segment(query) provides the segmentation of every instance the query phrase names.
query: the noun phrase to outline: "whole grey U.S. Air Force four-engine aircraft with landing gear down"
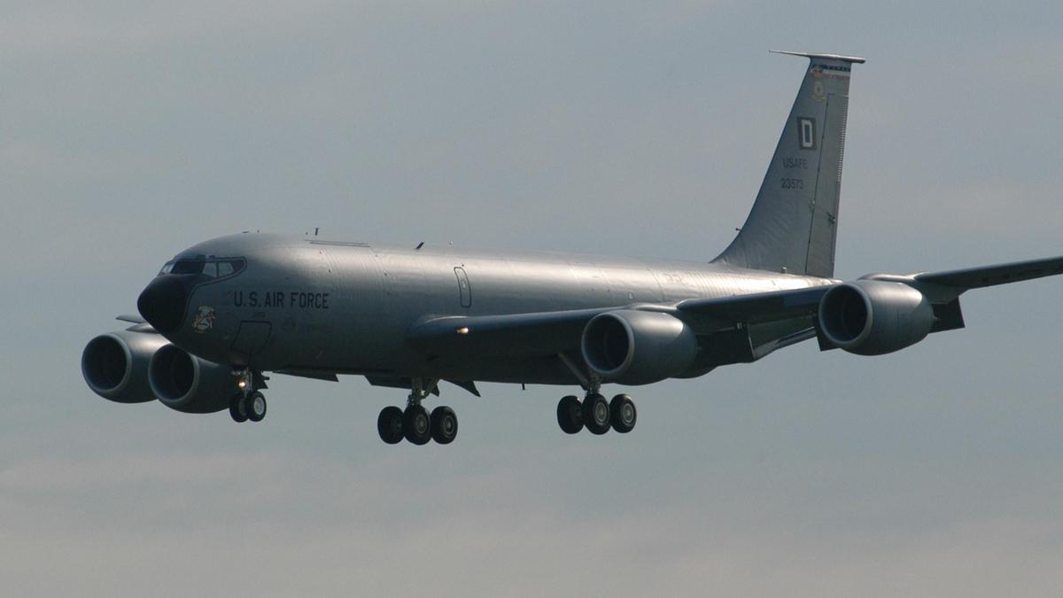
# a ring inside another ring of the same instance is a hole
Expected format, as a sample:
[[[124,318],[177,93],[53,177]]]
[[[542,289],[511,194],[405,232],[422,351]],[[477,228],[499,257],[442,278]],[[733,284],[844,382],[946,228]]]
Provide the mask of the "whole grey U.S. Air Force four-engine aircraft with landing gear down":
[[[266,415],[264,372],[409,391],[377,432],[449,444],[458,419],[423,401],[440,383],[579,386],[561,430],[630,432],[635,402],[603,384],[694,378],[815,338],[879,355],[963,328],[971,289],[1063,272],[1063,258],[944,272],[833,278],[851,68],[809,59],[745,225],[709,263],[568,253],[395,247],[317,236],[236,234],[166,263],[130,328],[92,338],[82,372],[118,402],[185,413]]]

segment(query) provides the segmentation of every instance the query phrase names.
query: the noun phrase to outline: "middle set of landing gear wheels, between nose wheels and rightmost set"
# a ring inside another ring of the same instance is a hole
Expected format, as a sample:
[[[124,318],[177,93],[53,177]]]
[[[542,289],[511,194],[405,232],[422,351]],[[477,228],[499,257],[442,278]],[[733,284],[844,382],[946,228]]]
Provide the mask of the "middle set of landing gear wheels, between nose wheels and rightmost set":
[[[406,400],[406,409],[390,405],[381,410],[376,418],[376,431],[381,439],[389,445],[399,444],[406,438],[415,445],[426,445],[436,441],[440,445],[449,445],[458,435],[458,416],[449,406],[437,406],[432,414],[421,405],[421,400],[439,384],[438,380],[425,381],[415,378],[411,391]]]

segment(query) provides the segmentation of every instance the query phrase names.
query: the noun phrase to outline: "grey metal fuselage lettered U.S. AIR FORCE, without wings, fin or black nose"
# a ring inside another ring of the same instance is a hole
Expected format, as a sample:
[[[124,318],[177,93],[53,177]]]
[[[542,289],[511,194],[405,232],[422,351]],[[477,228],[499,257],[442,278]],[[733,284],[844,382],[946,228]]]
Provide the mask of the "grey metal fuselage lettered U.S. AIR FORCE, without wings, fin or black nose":
[[[837,282],[698,262],[415,249],[259,233],[196,245],[174,258],[182,260],[244,264],[227,277],[159,276],[180,281],[185,296],[171,308],[182,312],[175,326],[159,332],[204,360],[259,371],[545,384],[574,383],[556,356],[451,359],[417,350],[407,332],[439,316],[672,304]],[[776,323],[770,334],[782,337],[809,326],[807,318]],[[684,377],[713,365],[697,362]]]

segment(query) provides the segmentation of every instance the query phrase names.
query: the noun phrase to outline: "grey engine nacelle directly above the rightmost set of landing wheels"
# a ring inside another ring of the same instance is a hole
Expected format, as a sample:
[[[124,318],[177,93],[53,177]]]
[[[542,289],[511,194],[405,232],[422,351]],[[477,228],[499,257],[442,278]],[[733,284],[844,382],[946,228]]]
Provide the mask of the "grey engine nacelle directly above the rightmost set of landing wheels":
[[[618,310],[587,322],[580,350],[602,380],[648,384],[686,371],[697,356],[697,338],[669,314]]]

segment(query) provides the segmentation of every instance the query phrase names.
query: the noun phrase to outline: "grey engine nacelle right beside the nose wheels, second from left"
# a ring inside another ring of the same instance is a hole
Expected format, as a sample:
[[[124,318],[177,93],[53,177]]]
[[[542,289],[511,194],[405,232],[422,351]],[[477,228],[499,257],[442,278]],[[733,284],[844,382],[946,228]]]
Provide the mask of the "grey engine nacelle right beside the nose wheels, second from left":
[[[189,355],[173,345],[155,351],[148,365],[152,393],[166,406],[184,413],[229,409],[237,380],[232,367]]]

